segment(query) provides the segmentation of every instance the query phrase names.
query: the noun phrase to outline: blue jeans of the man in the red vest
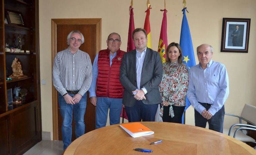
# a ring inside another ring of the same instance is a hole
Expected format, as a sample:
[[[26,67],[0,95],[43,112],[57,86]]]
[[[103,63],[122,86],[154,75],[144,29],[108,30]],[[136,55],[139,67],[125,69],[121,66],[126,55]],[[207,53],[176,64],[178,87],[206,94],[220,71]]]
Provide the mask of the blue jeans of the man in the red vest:
[[[110,125],[120,123],[120,115],[123,105],[122,101],[123,99],[97,97],[96,129],[106,126],[108,109]]]

